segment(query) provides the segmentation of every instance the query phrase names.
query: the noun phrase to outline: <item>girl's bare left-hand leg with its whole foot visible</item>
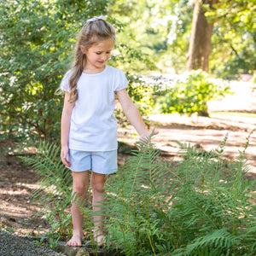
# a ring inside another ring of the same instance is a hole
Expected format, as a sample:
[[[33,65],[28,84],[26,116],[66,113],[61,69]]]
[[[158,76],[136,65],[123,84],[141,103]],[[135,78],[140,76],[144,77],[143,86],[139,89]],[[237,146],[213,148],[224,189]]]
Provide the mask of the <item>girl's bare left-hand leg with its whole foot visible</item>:
[[[89,172],[72,172],[73,174],[73,194],[77,196],[77,200],[73,202],[71,207],[73,236],[67,241],[70,247],[81,247],[83,238],[84,216],[79,206],[82,206],[89,189]]]

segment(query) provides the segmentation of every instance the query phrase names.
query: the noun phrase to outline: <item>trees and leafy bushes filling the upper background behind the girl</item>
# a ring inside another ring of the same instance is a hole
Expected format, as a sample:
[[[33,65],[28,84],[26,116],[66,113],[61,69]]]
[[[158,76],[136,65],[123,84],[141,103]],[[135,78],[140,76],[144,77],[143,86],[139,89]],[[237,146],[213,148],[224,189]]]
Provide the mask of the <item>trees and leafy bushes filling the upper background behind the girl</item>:
[[[2,1],[1,138],[59,139],[63,97],[58,88],[89,18],[108,15],[117,28],[109,64],[123,69],[132,84],[129,74],[148,71],[201,69],[221,79],[253,74],[255,11],[255,0]]]

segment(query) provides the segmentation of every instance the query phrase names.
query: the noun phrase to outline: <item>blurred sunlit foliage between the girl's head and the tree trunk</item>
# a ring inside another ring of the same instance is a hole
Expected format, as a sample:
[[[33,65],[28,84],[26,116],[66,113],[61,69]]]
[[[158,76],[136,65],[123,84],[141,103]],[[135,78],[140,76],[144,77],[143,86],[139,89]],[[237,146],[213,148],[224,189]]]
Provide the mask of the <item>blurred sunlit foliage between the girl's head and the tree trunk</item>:
[[[193,7],[189,1],[115,1],[113,17],[122,23],[118,33],[118,66],[141,73],[186,70]]]

